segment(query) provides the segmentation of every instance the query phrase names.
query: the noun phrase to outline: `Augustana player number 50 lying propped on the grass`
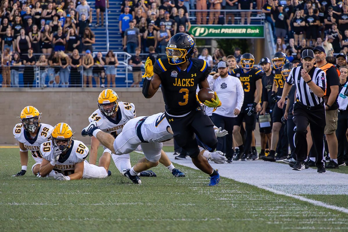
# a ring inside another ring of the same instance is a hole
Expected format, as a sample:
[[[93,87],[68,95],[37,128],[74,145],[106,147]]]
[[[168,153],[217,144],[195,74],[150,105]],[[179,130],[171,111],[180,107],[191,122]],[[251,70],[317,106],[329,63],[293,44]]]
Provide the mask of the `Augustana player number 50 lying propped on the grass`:
[[[42,162],[40,176],[46,176],[52,170],[56,171],[56,180],[106,178],[105,167],[89,164],[86,160],[88,147],[78,140],[73,140],[70,126],[64,122],[58,123],[52,131],[51,140],[42,143],[40,152]]]

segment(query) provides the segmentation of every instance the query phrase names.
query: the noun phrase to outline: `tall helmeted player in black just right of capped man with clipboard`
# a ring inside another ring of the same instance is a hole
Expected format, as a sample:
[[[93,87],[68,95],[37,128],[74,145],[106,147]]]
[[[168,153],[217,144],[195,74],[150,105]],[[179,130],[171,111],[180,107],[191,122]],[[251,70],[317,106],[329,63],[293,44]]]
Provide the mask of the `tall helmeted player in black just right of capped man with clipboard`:
[[[282,52],[277,52],[274,54],[272,63],[273,63],[273,75],[274,75],[274,82],[272,87],[272,99],[274,102],[277,102],[283,94],[283,87],[286,79],[282,75],[282,68],[283,65],[286,62],[286,55]],[[274,162],[276,160],[282,161],[287,159],[288,155],[288,141],[287,141],[287,133],[285,133],[284,129],[284,123],[282,122],[283,115],[285,113],[285,108],[280,109],[278,107],[278,104],[274,105],[273,111],[272,111],[272,140],[271,140],[271,147],[269,151],[269,155],[267,157],[262,158],[266,161]],[[281,131],[282,133],[279,133]],[[278,140],[280,137],[280,143],[278,144]],[[278,149],[277,149],[278,144]],[[276,155],[276,149],[279,151],[277,158]]]

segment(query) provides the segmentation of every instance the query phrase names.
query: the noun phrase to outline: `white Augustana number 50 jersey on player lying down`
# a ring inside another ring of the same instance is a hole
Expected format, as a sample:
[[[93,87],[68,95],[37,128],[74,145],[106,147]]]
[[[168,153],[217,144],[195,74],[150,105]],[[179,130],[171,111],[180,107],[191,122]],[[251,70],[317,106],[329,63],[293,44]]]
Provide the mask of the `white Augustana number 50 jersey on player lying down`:
[[[53,149],[52,141],[42,143],[40,146],[42,157],[51,161],[53,159]],[[62,173],[64,176],[69,176],[74,173],[75,164],[85,161],[88,154],[89,149],[84,143],[78,140],[72,140],[71,147],[64,156],[60,155],[53,170]]]

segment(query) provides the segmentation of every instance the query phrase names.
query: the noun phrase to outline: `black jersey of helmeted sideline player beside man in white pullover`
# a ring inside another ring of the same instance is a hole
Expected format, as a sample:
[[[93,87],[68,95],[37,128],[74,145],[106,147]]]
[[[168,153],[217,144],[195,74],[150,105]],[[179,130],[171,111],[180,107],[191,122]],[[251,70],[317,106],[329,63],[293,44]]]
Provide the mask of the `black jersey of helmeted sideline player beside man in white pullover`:
[[[242,68],[234,69],[231,73],[232,76],[239,78],[242,82],[244,89],[244,102],[253,103],[255,101],[255,91],[256,91],[256,81],[262,78],[262,71],[251,69],[248,72],[244,73]]]

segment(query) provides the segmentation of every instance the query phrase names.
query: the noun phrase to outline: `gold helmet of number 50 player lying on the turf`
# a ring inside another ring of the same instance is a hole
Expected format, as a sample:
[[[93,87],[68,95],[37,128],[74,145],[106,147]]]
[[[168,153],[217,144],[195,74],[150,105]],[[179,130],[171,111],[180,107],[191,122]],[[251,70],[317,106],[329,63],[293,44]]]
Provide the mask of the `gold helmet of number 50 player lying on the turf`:
[[[73,132],[65,122],[58,123],[51,134],[53,147],[59,147],[61,151],[68,151],[71,147]]]

